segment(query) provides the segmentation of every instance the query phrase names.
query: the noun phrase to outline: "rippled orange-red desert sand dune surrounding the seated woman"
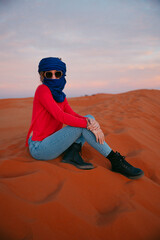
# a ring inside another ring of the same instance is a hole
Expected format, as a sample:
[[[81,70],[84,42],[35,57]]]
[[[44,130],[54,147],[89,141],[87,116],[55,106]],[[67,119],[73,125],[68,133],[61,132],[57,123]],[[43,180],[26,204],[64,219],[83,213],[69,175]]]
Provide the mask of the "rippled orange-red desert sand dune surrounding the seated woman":
[[[145,176],[130,180],[87,142],[79,170],[33,159],[25,147],[33,98],[0,100],[1,240],[160,239],[160,91],[68,98],[92,114],[106,142]],[[64,125],[65,126],[65,125]]]

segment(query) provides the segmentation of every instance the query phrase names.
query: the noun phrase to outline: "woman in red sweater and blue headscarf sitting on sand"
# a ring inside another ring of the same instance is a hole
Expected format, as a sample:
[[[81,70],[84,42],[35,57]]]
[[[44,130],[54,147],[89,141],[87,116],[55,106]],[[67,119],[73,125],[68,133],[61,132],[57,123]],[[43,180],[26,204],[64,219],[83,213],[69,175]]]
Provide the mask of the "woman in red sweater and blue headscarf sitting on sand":
[[[99,123],[92,115],[81,116],[72,110],[62,91],[66,84],[66,64],[60,58],[43,58],[38,72],[42,84],[35,92],[32,121],[26,138],[26,146],[29,146],[33,158],[51,160],[64,153],[63,163],[80,169],[93,169],[94,166],[80,155],[87,141],[110,160],[112,171],[132,179],[144,175],[141,169],[130,165],[124,156],[108,146]],[[67,126],[62,128],[63,124]],[[32,131],[33,135],[29,137]]]

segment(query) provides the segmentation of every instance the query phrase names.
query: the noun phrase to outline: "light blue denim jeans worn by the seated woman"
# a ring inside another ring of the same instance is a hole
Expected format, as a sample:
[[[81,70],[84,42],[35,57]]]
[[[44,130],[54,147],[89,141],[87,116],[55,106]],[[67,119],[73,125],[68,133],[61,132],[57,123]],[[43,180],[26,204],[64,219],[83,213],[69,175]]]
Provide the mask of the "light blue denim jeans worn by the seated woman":
[[[88,114],[85,117],[95,119]],[[100,152],[103,156],[107,156],[111,152],[111,148],[104,141],[100,144],[96,141],[96,136],[87,128],[66,126],[52,135],[46,137],[42,141],[33,141],[32,136],[28,139],[29,152],[31,156],[37,160],[51,160],[57,158],[74,142],[85,143],[87,141],[93,148]]]

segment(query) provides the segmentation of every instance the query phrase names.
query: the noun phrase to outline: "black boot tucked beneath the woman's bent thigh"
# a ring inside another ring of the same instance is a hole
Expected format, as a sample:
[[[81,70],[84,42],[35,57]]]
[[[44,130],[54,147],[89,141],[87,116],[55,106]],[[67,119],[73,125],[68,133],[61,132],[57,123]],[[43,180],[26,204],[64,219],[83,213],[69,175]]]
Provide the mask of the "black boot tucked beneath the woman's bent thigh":
[[[62,158],[63,163],[70,163],[80,169],[93,169],[94,166],[91,163],[86,163],[80,156],[82,144],[73,143],[65,152]]]

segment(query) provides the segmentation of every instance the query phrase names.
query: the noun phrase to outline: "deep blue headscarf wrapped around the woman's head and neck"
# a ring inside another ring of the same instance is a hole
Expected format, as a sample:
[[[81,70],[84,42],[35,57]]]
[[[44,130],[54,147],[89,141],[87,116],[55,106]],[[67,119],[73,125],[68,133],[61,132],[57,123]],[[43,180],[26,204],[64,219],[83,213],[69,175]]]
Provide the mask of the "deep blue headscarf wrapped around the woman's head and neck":
[[[66,94],[62,92],[64,86],[66,84],[66,64],[62,62],[59,58],[48,57],[43,58],[38,65],[38,72],[41,71],[50,71],[57,70],[62,71],[63,75],[59,79],[47,79],[44,77],[43,84],[48,86],[50,89],[52,96],[56,102],[63,102]]]

